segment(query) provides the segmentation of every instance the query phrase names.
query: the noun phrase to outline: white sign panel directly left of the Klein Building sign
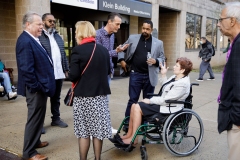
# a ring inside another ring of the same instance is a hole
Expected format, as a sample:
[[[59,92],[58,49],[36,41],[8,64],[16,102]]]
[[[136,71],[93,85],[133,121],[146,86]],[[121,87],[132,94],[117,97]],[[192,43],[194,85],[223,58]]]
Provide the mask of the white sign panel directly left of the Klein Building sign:
[[[98,0],[52,0],[52,2],[89,9],[97,9],[98,6]]]

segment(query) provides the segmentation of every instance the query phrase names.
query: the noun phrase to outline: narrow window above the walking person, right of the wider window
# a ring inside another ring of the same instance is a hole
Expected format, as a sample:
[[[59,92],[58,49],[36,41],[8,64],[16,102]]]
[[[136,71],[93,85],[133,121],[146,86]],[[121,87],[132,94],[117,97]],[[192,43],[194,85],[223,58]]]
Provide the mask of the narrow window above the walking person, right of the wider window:
[[[217,20],[207,18],[206,22],[206,38],[213,46],[217,47]]]

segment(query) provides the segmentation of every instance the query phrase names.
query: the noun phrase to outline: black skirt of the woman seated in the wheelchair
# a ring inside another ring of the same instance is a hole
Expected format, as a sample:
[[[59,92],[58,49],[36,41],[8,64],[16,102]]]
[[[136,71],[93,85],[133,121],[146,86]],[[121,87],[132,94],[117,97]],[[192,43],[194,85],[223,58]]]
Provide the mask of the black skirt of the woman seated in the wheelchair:
[[[146,104],[144,102],[138,102],[143,116],[151,116],[155,113],[160,113],[160,105],[157,104]]]

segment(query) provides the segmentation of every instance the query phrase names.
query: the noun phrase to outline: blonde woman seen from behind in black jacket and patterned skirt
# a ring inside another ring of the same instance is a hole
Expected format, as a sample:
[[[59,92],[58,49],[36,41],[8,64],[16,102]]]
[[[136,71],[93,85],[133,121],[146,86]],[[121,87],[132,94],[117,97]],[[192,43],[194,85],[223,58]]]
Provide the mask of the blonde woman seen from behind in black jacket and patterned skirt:
[[[96,44],[95,36],[96,31],[90,22],[76,23],[78,46],[72,51],[69,79],[76,85],[73,119],[81,160],[87,159],[90,136],[93,137],[95,159],[100,160],[103,139],[110,138],[112,134],[107,105],[107,95],[111,93],[108,84],[108,75],[111,73],[110,57],[105,47]]]

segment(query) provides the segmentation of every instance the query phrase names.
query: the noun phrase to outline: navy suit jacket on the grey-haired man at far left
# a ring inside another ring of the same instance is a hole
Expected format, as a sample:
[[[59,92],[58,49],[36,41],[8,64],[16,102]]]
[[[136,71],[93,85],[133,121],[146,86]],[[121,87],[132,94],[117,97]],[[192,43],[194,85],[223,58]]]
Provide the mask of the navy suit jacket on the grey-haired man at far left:
[[[52,60],[40,44],[27,32],[18,37],[16,45],[19,95],[42,91],[47,96],[55,93],[55,78]]]

